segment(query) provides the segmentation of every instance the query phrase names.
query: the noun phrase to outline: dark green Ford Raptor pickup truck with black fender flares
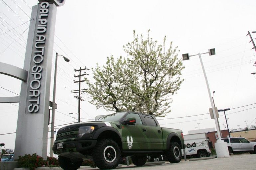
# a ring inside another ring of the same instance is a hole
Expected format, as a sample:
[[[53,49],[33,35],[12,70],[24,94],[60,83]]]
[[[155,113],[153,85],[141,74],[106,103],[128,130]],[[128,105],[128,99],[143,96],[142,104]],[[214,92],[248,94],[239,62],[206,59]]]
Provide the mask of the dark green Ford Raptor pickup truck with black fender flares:
[[[161,154],[178,163],[185,147],[182,130],[161,128],[151,115],[118,112],[60,128],[53,151],[64,170],[76,170],[90,158],[100,169],[114,169],[124,156],[131,156],[136,166]]]

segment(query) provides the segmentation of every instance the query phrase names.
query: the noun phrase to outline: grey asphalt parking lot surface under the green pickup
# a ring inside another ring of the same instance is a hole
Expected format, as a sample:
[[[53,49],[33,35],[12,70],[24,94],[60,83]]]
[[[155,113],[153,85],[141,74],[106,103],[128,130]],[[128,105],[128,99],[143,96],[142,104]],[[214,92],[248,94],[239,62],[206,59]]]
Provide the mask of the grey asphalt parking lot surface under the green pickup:
[[[98,168],[84,168],[84,170],[94,170]],[[116,170],[255,170],[256,169],[256,154],[240,154],[231,155],[226,158],[214,158],[198,161],[184,161],[171,164],[166,162],[161,165],[144,165],[137,167],[132,165],[117,167]],[[81,169],[79,169],[81,170]]]

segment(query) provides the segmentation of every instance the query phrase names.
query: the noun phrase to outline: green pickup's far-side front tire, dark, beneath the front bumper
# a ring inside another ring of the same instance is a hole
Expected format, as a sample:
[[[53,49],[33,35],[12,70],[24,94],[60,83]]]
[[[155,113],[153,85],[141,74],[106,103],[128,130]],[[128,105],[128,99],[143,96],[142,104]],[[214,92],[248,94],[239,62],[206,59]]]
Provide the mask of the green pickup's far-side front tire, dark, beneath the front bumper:
[[[80,166],[82,165],[82,162],[83,162],[82,159],[76,162],[72,162],[70,158],[59,156],[59,164],[61,168],[64,170],[76,170],[80,168]]]

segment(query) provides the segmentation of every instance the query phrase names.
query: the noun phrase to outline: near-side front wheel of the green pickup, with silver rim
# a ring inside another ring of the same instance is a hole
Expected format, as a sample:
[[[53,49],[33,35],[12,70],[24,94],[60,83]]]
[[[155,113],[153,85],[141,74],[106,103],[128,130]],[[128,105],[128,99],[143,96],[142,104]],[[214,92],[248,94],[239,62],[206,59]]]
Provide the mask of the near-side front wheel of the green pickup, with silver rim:
[[[118,166],[121,151],[112,139],[102,139],[93,149],[92,158],[99,169],[114,169]]]

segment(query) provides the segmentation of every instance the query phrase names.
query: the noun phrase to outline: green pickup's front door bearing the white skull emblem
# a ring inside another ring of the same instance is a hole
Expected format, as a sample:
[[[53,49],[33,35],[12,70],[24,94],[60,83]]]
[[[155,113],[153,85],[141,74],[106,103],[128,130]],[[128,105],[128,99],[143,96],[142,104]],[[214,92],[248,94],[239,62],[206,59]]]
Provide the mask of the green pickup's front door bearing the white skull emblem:
[[[148,149],[148,139],[146,136],[146,126],[143,125],[141,117],[137,113],[129,113],[124,120],[135,118],[135,125],[122,125],[123,150]]]

